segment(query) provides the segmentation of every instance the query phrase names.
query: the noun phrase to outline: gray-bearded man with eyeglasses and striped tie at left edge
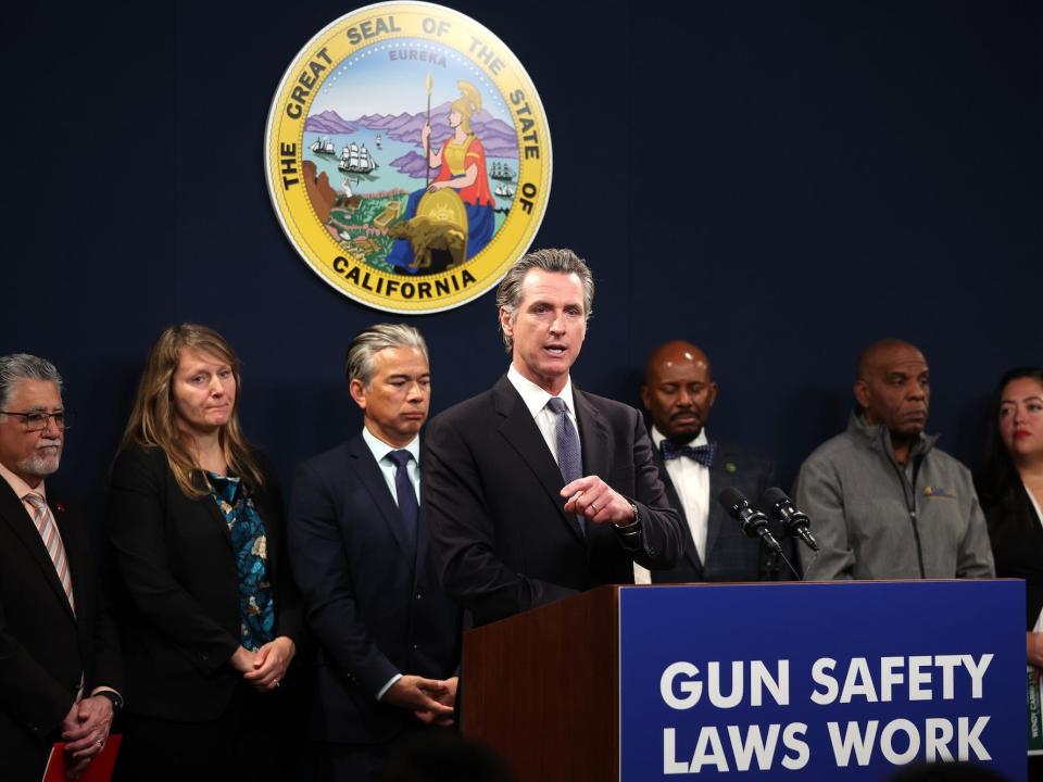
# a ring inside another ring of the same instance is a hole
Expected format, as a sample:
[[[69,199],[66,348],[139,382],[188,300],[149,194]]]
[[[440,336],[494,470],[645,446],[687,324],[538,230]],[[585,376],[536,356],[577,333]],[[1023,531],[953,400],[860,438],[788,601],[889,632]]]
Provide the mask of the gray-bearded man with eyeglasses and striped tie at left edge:
[[[115,626],[95,577],[87,528],[45,479],[70,414],[50,362],[0,356],[0,779],[38,780],[66,742],[81,771],[122,706]]]

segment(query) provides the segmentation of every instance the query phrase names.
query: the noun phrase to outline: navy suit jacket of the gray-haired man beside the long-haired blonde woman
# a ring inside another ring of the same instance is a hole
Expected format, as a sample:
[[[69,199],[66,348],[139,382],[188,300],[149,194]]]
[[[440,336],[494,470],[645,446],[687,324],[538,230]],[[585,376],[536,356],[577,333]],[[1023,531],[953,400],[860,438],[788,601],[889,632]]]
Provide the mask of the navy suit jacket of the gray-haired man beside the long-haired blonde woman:
[[[414,562],[391,490],[357,434],[298,468],[289,518],[290,559],[318,642],[311,733],[389,742],[420,723],[377,701],[385,684],[397,673],[448,679],[460,660],[461,611],[438,588],[423,506]]]

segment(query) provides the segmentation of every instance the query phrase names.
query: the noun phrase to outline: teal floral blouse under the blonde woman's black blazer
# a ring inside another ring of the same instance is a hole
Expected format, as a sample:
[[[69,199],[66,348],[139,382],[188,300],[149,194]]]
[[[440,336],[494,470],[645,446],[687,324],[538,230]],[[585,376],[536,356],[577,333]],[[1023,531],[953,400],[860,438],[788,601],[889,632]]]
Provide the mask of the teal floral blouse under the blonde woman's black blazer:
[[[206,472],[211,496],[231,534],[239,572],[240,643],[256,652],[275,636],[275,600],[268,579],[268,541],[250,492],[236,476]]]

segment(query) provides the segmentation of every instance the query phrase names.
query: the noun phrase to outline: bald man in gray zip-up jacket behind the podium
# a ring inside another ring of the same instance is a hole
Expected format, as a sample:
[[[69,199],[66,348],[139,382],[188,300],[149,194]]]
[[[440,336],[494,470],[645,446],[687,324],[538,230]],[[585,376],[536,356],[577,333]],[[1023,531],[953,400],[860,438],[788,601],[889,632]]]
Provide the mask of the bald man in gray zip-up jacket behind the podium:
[[[923,433],[930,383],[915,346],[882,340],[858,360],[847,431],[807,457],[796,505],[821,552],[804,577],[991,578],[992,551],[970,471]]]

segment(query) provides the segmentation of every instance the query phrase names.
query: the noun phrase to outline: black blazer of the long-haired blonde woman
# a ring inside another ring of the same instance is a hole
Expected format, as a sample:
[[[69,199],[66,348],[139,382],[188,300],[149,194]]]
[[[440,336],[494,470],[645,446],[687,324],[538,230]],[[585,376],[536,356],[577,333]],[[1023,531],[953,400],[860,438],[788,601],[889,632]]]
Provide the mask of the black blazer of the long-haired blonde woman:
[[[267,459],[254,457],[264,487],[251,496],[266,528],[275,635],[300,645],[282,499]],[[214,719],[241,681],[228,663],[239,646],[239,580],[225,517],[210,495],[193,499],[180,490],[162,449],[135,445],[113,465],[106,528],[127,711],[177,721]]]

